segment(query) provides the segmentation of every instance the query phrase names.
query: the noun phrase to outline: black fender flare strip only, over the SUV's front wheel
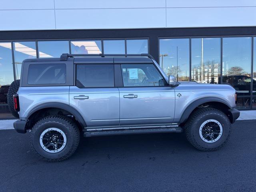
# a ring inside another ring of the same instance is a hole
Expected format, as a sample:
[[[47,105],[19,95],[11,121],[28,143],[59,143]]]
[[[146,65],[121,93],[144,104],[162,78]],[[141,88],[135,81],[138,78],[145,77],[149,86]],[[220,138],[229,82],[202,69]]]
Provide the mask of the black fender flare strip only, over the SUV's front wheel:
[[[229,109],[232,109],[232,107],[230,107],[230,105],[228,104],[228,102],[226,102],[223,99],[217,98],[217,97],[206,97],[206,98],[201,98],[198,100],[195,100],[194,102],[192,102],[183,112],[181,118],[180,118],[180,124],[186,122],[186,120],[188,119],[188,117],[190,116],[190,114],[192,113],[192,111],[198,107],[199,105],[202,105],[204,103],[207,102],[220,102],[222,104],[225,104],[226,106],[228,106]]]

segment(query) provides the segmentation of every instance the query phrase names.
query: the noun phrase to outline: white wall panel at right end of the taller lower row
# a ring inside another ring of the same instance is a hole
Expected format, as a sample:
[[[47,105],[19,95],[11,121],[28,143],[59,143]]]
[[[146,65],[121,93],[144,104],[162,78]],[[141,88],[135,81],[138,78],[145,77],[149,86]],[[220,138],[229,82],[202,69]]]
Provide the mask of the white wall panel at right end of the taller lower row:
[[[256,26],[256,7],[167,8],[166,27]]]

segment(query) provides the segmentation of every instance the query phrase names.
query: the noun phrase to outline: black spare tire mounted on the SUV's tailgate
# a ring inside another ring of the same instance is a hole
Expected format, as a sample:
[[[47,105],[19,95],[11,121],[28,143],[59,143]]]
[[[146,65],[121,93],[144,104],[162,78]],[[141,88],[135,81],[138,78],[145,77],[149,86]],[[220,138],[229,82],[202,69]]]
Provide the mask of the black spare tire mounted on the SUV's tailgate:
[[[18,112],[16,112],[14,110],[13,95],[17,94],[19,87],[20,87],[20,80],[15,80],[10,85],[8,93],[7,93],[7,102],[8,102],[9,110],[10,110],[11,114],[16,118],[20,118],[20,116],[19,116]]]

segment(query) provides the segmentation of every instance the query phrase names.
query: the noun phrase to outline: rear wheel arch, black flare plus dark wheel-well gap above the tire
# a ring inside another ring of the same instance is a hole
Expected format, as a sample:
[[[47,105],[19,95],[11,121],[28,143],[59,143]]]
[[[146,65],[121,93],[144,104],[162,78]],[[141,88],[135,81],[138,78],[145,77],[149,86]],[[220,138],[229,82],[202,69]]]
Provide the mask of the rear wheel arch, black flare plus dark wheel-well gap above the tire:
[[[25,118],[27,120],[30,120],[39,112],[51,111],[51,110],[55,110],[55,111],[59,110],[61,112],[65,112],[65,114],[70,114],[74,116],[74,118],[82,128],[86,127],[84,118],[75,108],[73,108],[72,106],[69,106],[68,104],[58,103],[58,102],[49,102],[45,104],[40,104],[34,107]]]

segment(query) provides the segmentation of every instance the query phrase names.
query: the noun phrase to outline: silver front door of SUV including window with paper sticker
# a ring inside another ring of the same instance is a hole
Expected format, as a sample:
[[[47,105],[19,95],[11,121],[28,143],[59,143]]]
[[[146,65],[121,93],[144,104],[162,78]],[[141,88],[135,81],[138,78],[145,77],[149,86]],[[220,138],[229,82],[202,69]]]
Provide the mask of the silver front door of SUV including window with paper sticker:
[[[121,64],[120,125],[170,124],[175,92],[154,64]]]

